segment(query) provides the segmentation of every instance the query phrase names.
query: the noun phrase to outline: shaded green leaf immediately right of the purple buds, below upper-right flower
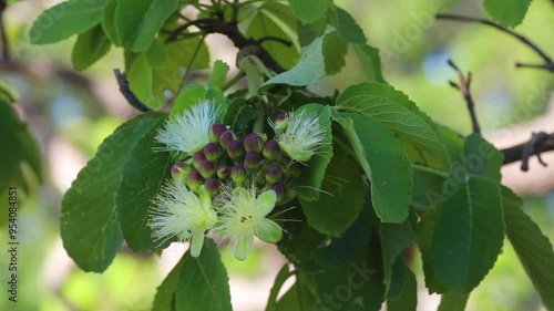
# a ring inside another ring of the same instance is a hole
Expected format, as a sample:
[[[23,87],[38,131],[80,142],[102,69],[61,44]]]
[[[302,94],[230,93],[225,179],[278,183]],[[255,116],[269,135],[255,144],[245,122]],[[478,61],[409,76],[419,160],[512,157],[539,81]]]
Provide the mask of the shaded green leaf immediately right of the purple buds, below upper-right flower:
[[[311,227],[340,237],[363,207],[363,184],[356,163],[339,151],[327,166],[325,177],[319,200],[307,201],[300,197],[300,205]]]

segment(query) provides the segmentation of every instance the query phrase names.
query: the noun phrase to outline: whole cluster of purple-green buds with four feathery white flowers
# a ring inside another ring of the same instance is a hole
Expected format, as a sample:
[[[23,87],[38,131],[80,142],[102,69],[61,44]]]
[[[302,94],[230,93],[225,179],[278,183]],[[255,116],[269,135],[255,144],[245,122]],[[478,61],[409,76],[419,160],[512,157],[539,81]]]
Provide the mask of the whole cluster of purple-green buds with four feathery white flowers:
[[[295,197],[288,186],[322,145],[325,129],[315,114],[279,115],[270,122],[275,138],[250,133],[243,139],[216,123],[220,112],[204,101],[166,122],[157,151],[182,159],[172,167],[173,180],[154,198],[150,212],[153,237],[191,241],[199,256],[204,235],[212,230],[229,239],[235,258],[244,260],[254,237],[277,242],[283,230],[267,216],[277,203]]]

